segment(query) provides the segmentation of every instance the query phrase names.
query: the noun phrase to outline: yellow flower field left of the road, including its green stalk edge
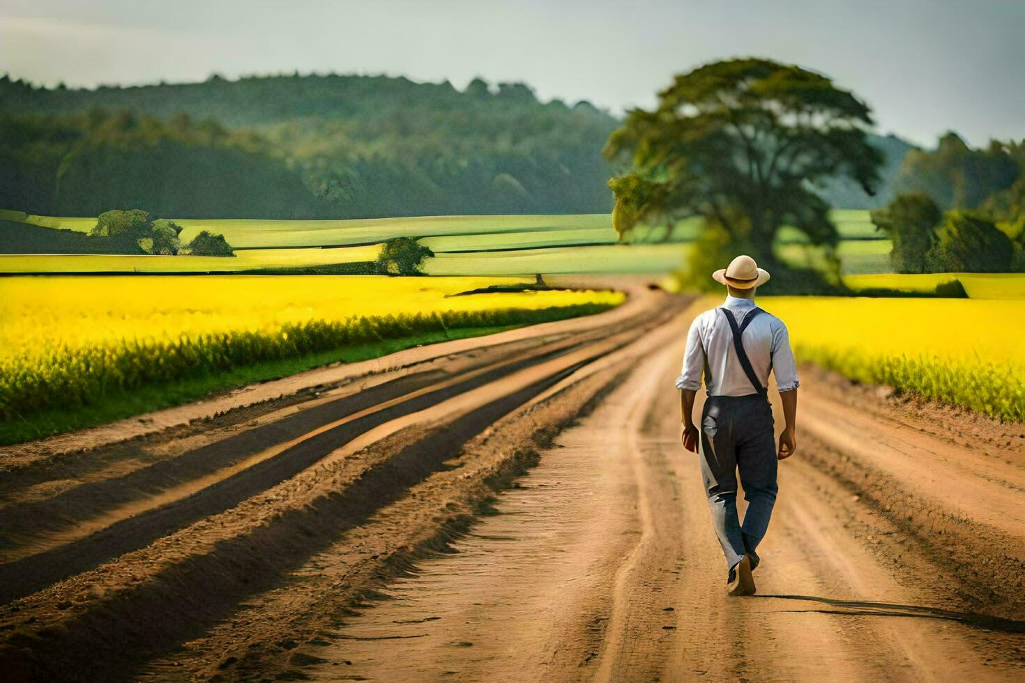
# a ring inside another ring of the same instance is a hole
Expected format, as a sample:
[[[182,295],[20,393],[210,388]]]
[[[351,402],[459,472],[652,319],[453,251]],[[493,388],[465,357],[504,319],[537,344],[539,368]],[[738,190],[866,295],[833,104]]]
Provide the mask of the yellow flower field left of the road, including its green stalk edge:
[[[208,275],[0,280],[0,422],[355,344],[605,310],[614,292],[448,295],[522,279]]]

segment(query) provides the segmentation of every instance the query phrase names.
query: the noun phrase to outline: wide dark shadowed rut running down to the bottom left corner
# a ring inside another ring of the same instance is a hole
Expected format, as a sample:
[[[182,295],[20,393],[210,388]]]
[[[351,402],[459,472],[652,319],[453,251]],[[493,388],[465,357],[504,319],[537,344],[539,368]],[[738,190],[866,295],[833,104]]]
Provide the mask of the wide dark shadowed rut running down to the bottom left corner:
[[[590,360],[481,405],[373,467],[346,489],[218,542],[205,555],[184,558],[43,637],[12,634],[13,647],[0,650],[0,669],[15,672],[12,680],[135,678],[140,661],[204,633],[247,597],[287,581],[282,578],[308,558],[445,469],[466,441],[501,416]],[[97,638],[98,633],[106,635]]]

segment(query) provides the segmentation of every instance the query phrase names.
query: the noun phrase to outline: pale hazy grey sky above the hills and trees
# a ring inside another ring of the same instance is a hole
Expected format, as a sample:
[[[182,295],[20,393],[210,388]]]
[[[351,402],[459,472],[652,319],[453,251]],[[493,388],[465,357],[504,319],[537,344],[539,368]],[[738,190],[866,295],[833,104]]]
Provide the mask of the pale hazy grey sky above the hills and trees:
[[[1025,0],[0,0],[0,72],[49,85],[481,75],[619,113],[673,73],[757,55],[831,76],[927,144],[1025,137],[1023,39]]]

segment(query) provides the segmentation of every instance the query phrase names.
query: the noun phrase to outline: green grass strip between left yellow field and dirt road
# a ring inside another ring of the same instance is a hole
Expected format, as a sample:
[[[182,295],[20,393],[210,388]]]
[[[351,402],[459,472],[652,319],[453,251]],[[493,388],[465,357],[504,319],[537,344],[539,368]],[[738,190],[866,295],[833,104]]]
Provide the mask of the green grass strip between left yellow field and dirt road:
[[[0,446],[31,441],[76,429],[108,424],[136,415],[181,405],[256,382],[266,382],[333,362],[359,362],[395,353],[413,346],[455,339],[482,337],[530,325],[454,328],[448,333],[432,332],[399,339],[310,353],[236,368],[223,373],[144,386],[105,396],[100,401],[68,411],[45,411],[28,418],[0,423]],[[2,455],[2,454],[0,454]],[[0,463],[2,465],[2,463]]]

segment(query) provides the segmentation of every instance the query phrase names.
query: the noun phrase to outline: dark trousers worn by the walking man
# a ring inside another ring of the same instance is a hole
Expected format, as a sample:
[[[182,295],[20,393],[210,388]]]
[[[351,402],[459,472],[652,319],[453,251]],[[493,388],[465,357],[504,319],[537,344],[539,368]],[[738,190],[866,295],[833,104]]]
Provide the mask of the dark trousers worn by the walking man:
[[[769,528],[776,503],[776,442],[772,407],[758,394],[708,396],[701,413],[701,475],[712,525],[732,569]],[[737,472],[747,512],[737,517]]]

